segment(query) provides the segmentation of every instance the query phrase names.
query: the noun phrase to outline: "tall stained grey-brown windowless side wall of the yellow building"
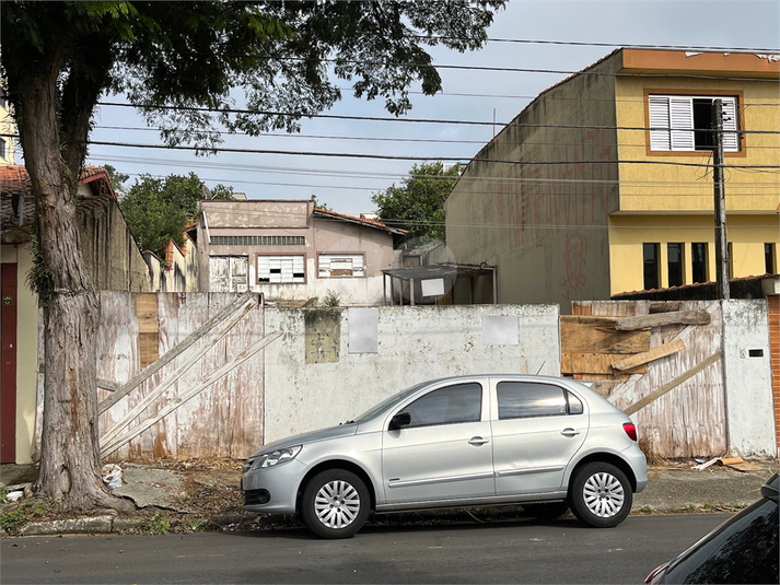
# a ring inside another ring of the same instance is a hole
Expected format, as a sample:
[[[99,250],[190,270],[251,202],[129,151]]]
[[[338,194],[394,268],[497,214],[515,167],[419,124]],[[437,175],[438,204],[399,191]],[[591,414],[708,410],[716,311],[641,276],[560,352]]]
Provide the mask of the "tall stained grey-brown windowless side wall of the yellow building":
[[[457,262],[498,265],[499,303],[559,303],[569,313],[570,301],[609,296],[607,219],[617,210],[610,73],[618,68],[608,58],[595,74],[539,95],[450,194],[447,246]],[[491,302],[490,289],[477,286],[476,301]]]

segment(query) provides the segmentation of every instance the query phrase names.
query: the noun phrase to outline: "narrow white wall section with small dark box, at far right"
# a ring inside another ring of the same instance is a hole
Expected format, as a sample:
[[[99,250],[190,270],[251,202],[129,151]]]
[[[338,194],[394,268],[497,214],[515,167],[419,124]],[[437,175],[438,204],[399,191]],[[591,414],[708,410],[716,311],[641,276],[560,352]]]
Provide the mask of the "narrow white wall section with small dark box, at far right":
[[[726,428],[733,455],[776,457],[766,300],[723,301]],[[762,356],[750,356],[759,350]]]

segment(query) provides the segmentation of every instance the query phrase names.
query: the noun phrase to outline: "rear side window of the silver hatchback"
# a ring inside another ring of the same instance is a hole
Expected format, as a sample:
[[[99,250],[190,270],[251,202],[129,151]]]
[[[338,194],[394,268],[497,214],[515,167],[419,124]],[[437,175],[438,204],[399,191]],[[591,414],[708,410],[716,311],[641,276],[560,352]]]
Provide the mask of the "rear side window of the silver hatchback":
[[[499,419],[558,417],[567,413],[566,390],[552,384],[499,382]],[[579,402],[577,397],[572,398]],[[582,412],[582,402],[580,402]]]

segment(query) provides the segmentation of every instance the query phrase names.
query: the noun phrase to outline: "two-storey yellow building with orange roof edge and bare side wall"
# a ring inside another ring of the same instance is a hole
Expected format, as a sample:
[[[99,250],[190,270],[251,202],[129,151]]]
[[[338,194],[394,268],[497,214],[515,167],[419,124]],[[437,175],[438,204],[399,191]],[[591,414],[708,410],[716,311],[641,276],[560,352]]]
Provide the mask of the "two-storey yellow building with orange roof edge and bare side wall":
[[[615,50],[537,96],[469,163],[445,203],[456,261],[497,265],[500,303],[563,313],[714,280],[707,130],[720,98],[730,274],[777,273],[779,77],[777,56]],[[491,283],[477,289],[489,302]]]

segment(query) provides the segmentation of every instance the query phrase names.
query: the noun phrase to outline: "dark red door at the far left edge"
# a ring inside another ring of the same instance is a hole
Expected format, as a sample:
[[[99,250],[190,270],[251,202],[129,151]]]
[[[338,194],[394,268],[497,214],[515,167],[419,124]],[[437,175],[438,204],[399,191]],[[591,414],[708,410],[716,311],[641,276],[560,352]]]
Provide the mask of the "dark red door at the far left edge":
[[[16,460],[16,265],[0,265],[2,273],[2,348],[0,359],[0,463]]]

